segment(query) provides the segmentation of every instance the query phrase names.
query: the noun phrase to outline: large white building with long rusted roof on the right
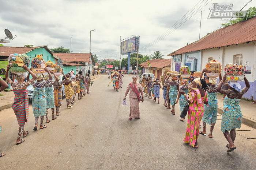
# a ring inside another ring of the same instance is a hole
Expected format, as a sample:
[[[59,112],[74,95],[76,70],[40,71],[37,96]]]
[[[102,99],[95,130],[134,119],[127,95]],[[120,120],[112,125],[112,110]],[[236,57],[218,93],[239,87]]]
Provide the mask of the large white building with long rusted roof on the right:
[[[256,17],[208,33],[168,56],[172,56],[173,71],[184,65],[202,71],[206,62],[212,59],[221,62],[222,67],[227,63],[244,65],[251,87],[243,97],[256,98]],[[244,81],[239,83],[245,87]]]

